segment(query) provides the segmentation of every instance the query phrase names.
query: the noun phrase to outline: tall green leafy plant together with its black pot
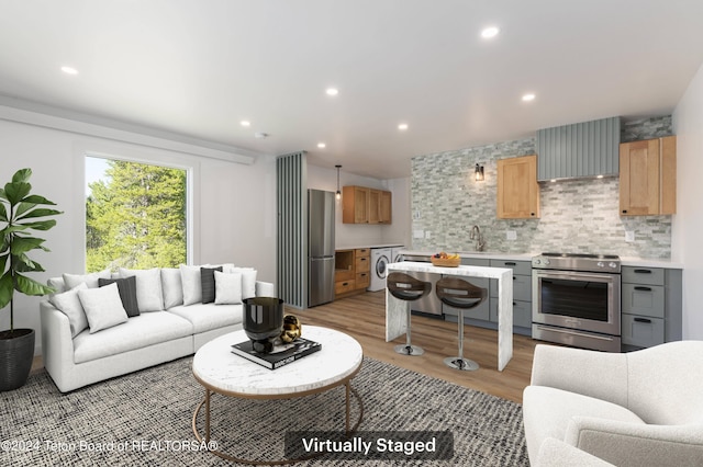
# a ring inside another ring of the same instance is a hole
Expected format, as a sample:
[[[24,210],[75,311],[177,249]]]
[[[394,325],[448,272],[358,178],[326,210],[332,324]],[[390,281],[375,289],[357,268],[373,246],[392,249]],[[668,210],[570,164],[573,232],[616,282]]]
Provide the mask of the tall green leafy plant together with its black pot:
[[[0,310],[10,306],[10,329],[0,331],[0,391],[24,385],[34,358],[34,330],[14,328],[14,292],[34,296],[54,292],[25,275],[44,271],[27,253],[48,251],[42,244],[44,239],[32,237],[30,231],[51,229],[56,220],[45,218],[62,214],[40,207],[55,203],[30,193],[30,176],[31,169],[18,170],[12,181],[0,189]]]

